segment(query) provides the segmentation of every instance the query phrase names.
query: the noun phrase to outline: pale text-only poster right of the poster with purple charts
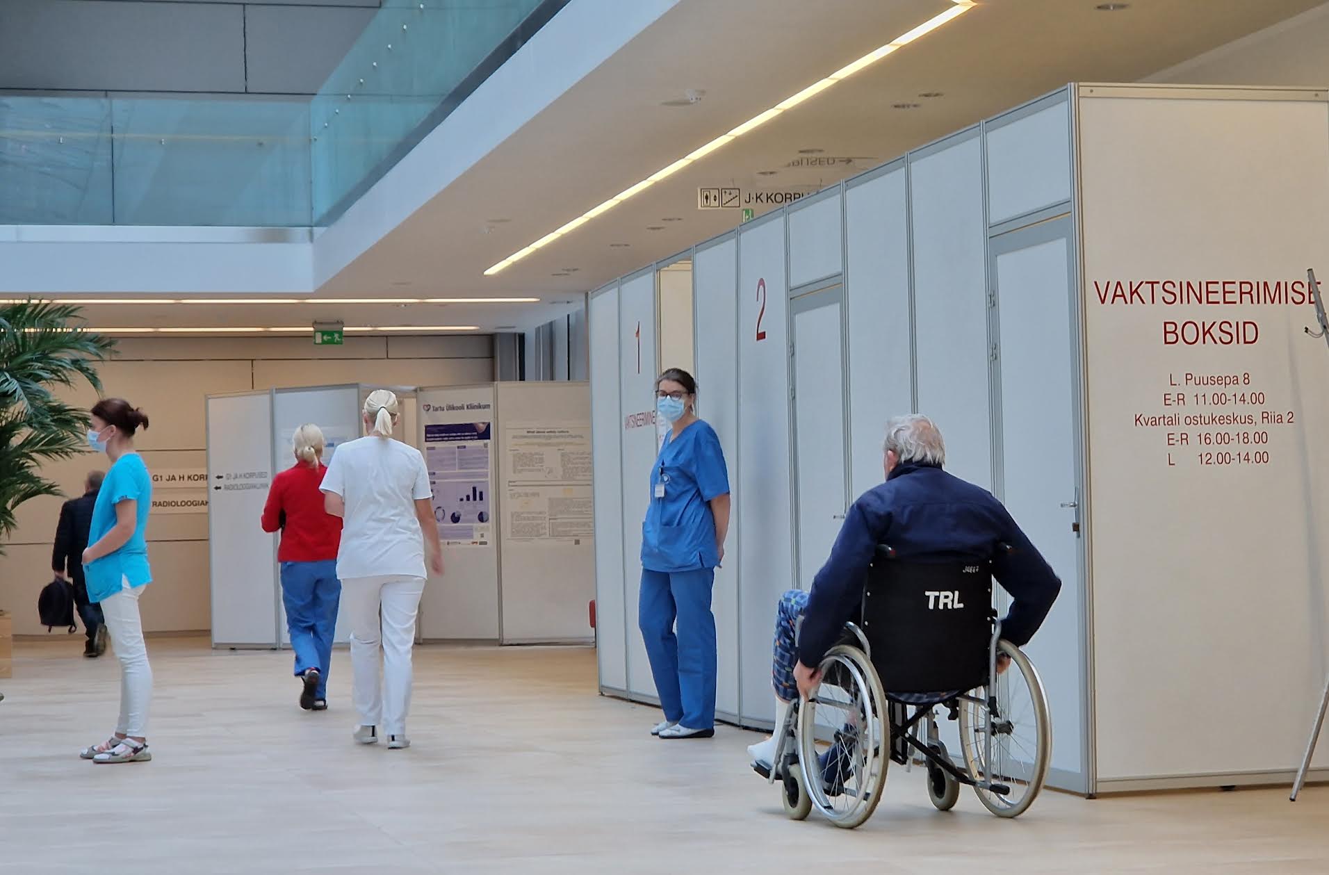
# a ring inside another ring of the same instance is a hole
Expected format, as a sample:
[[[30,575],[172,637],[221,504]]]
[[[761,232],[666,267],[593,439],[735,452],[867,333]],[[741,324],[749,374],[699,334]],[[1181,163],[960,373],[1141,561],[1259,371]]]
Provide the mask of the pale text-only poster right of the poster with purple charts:
[[[505,536],[581,544],[594,535],[589,423],[506,428]]]

